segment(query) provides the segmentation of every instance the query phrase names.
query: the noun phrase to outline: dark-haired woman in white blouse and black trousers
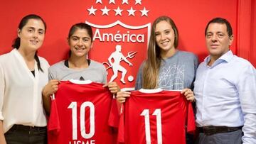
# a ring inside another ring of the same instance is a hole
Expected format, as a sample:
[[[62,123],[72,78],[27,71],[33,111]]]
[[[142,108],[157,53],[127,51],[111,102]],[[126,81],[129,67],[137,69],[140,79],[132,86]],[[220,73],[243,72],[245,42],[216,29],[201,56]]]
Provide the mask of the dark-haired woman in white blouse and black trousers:
[[[46,23],[34,14],[21,19],[14,50],[0,56],[0,143],[47,143],[42,89],[48,62],[38,57]]]

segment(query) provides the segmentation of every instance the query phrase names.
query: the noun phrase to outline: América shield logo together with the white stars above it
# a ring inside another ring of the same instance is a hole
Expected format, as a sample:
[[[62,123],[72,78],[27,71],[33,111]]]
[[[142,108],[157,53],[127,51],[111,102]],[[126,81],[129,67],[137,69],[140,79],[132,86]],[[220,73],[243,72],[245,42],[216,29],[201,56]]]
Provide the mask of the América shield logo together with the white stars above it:
[[[142,0],[122,0],[122,4],[117,4],[114,0],[107,4],[96,0],[87,11],[93,17],[85,23],[94,28],[94,44],[89,57],[105,65],[108,82],[114,81],[121,88],[134,89],[139,66],[146,59],[151,23],[136,26],[122,23],[120,19],[147,17],[149,10],[142,6]],[[111,22],[107,19],[108,24],[102,24],[106,23],[102,21],[91,22],[106,16],[112,19]]]

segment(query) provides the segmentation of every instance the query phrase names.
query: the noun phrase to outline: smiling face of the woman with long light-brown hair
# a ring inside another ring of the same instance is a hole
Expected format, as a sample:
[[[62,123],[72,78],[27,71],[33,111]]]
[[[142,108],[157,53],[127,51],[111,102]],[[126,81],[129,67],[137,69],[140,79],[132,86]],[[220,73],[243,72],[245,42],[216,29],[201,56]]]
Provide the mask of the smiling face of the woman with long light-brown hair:
[[[167,21],[160,21],[156,24],[156,45],[159,46],[161,57],[168,57],[175,50],[175,34],[171,24]]]

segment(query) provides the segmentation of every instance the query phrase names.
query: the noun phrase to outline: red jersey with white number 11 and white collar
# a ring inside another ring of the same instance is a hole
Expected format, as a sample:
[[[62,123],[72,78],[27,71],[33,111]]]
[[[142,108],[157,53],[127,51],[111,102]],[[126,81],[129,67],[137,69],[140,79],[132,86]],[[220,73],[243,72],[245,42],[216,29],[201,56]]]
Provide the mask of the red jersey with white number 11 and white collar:
[[[134,91],[127,98],[119,126],[119,142],[185,144],[186,131],[193,132],[196,128],[191,103],[181,92],[152,93],[152,90],[147,90],[150,93]]]

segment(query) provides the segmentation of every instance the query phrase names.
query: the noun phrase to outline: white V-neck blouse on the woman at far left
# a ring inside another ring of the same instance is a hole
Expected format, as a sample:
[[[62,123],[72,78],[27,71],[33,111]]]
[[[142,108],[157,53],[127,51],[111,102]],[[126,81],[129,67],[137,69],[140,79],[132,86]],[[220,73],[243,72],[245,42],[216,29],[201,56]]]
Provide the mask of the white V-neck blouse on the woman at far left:
[[[48,83],[48,62],[39,57],[43,72],[35,62],[35,76],[14,49],[0,56],[0,120],[4,133],[14,124],[46,126],[42,89]]]

